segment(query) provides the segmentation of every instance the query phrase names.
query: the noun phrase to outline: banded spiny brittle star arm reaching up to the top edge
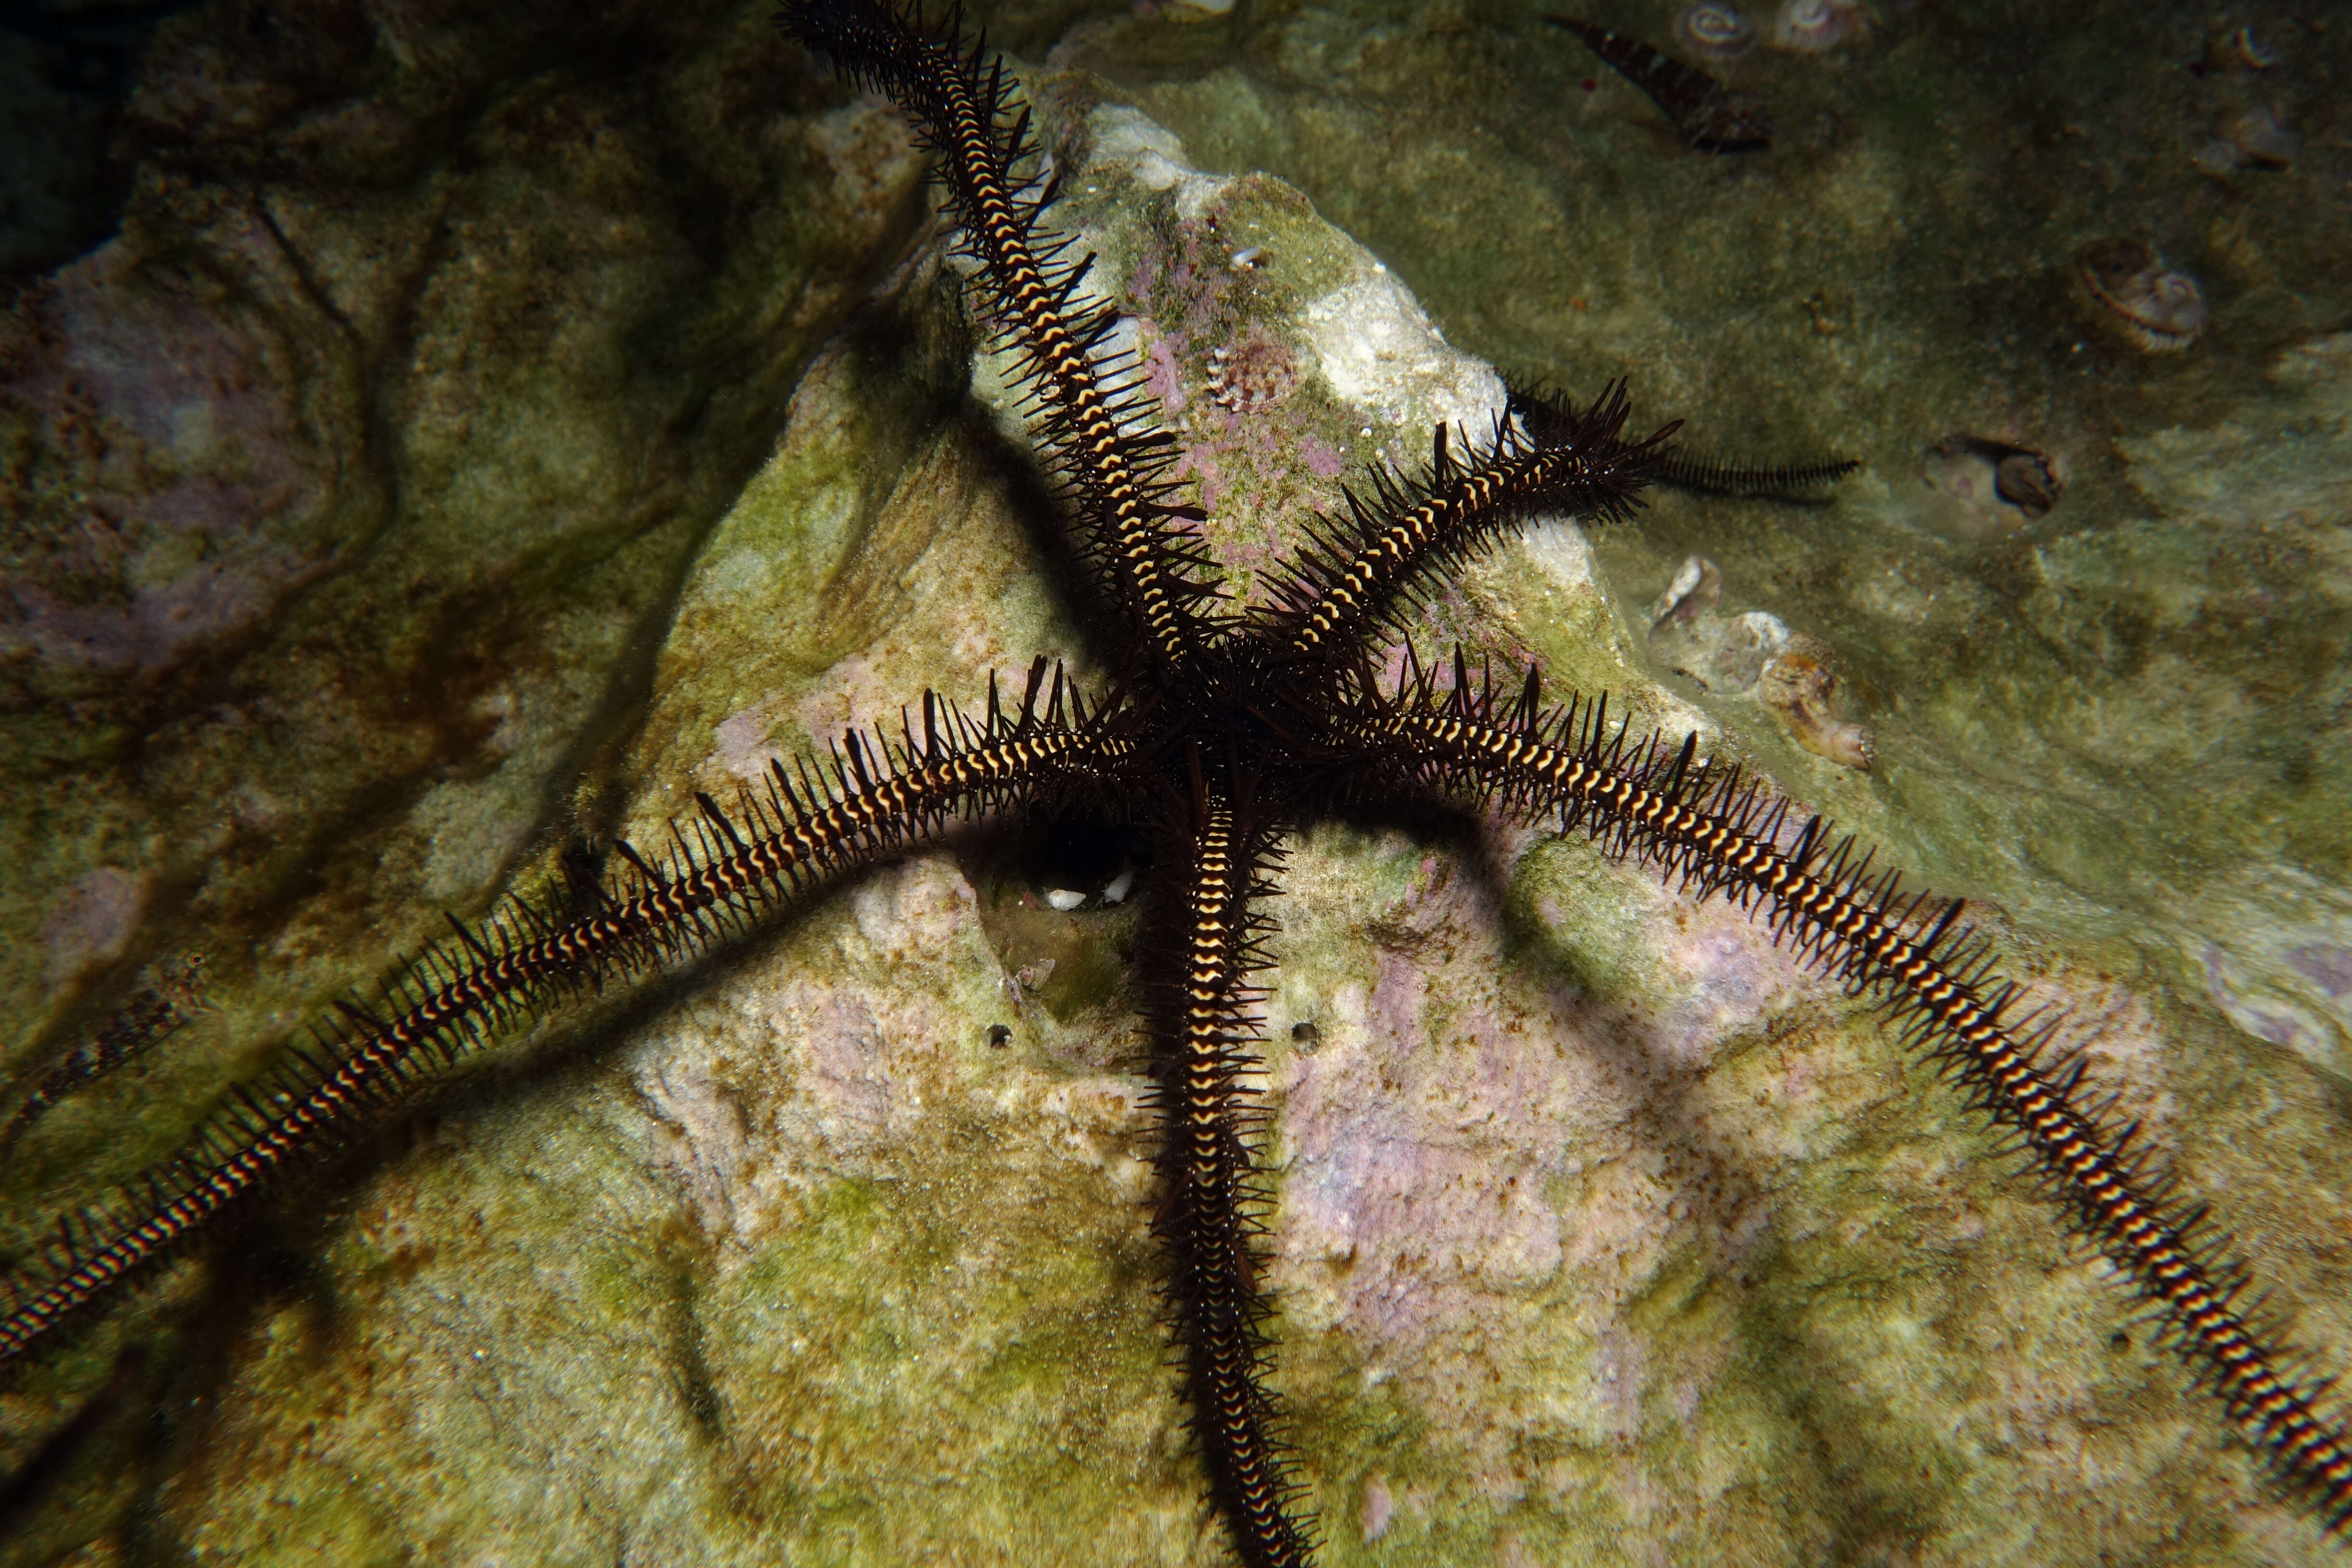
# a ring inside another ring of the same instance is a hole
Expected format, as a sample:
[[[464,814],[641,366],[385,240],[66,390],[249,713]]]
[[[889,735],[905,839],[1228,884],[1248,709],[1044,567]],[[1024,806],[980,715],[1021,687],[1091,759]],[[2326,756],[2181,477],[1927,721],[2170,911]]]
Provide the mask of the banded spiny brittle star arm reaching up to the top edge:
[[[1155,665],[1174,672],[1195,663],[1209,632],[1192,607],[1216,595],[1197,576],[1207,562],[1183,527],[1195,512],[1169,501],[1167,440],[1136,433],[1143,404],[1131,388],[1105,383],[1124,367],[1094,357],[1117,324],[1110,306],[1080,303],[1094,256],[1061,261],[1068,240],[1037,237],[1054,190],[1051,179],[1014,176],[1037,148],[1028,110],[1011,115],[1002,56],[990,59],[985,42],[967,49],[957,14],[931,28],[920,9],[884,0],[793,0],[779,26],[913,115],[936,153],[931,172],[964,247],[981,263],[983,292],[1021,348],[1089,557]]]

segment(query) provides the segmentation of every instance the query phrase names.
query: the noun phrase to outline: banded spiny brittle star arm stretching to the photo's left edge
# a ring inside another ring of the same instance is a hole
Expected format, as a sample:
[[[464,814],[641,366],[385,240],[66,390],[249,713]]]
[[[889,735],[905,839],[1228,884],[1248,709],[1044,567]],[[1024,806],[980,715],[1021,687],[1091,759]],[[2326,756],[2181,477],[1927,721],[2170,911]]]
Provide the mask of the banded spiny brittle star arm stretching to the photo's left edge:
[[[830,769],[802,764],[797,780],[774,764],[767,799],[746,792],[734,818],[699,795],[691,839],[673,827],[659,867],[616,844],[630,870],[612,886],[574,886],[546,905],[517,900],[473,929],[452,919],[456,945],[407,964],[374,1006],[339,1004],[341,1023],[320,1030],[318,1056],[301,1056],[259,1091],[235,1091],[228,1119],[82,1227],[66,1227],[47,1260],[14,1276],[0,1363],[336,1147],[503,1025],[689,959],[795,893],[938,837],[960,816],[1091,790],[1124,762],[1127,715],[1117,703],[1089,712],[1058,670],[1051,691],[1044,686],[1040,658],[1021,708],[1004,712],[990,679],[978,719],[924,693],[920,733],[913,719],[901,741],[851,731]]]

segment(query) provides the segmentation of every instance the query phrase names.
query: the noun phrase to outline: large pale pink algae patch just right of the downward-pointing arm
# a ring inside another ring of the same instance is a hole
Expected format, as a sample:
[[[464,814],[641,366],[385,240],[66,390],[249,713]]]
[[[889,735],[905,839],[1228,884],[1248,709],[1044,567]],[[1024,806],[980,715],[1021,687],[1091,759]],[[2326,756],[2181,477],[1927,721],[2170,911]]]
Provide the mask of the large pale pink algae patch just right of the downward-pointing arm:
[[[1350,919],[1348,940],[1369,936],[1371,954],[1345,959],[1322,1046],[1282,1070],[1277,1284],[1289,1312],[1350,1340],[1367,1375],[1442,1413],[1468,1483],[1508,1488],[1522,1476],[1515,1427],[1461,1389],[1552,1356],[1550,1420],[1583,1439],[1632,1434],[1665,1373],[1625,1314],[1677,1258],[1733,1260],[1769,1229],[1703,1084],[1806,980],[1738,912],[1639,886],[1581,912],[1639,926],[1637,985],[1604,1001],[1508,961],[1494,889],[1510,835],[1498,839],[1496,877],[1416,858],[1402,896]],[[1334,893],[1312,846],[1291,872],[1298,907]],[[1588,1347],[1566,1368],[1564,1331]],[[1703,1380],[1705,1352],[1686,1349],[1672,1375]]]

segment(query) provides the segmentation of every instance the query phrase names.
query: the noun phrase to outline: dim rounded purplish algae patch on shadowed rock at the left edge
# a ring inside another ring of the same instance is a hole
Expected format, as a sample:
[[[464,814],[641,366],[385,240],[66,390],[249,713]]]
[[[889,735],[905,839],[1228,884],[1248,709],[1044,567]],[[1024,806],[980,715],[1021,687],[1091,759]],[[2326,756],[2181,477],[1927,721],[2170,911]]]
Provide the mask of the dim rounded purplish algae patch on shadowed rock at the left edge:
[[[118,240],[0,315],[0,656],[155,672],[322,564],[285,371]]]

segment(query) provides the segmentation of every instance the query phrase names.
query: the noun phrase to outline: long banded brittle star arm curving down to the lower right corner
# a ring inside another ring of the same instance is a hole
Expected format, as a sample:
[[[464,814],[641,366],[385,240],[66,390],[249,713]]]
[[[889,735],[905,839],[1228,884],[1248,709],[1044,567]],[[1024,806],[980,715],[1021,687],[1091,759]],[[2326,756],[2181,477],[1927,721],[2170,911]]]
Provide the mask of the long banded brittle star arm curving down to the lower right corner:
[[[1515,701],[1472,691],[1461,654],[1454,686],[1406,679],[1359,693],[1341,726],[1371,766],[1454,799],[1496,802],[1524,818],[1557,816],[1618,858],[1722,893],[1813,969],[1882,997],[1903,1037],[2018,1135],[2074,1225],[2147,1298],[2199,1382],[2220,1394],[2239,1432],[2331,1528],[2352,1521],[2352,1434],[2326,1408],[2321,1382],[2284,1371],[2288,1352],[2239,1307],[2246,1267],[2204,1229],[2201,1211],[2164,1197],[2147,1154],[2089,1103],[2079,1053],[2053,1048],[2056,1023],[2016,1020],[2018,987],[1957,929],[1959,900],[1898,893],[1853,842],[1830,844],[1816,816],[1792,827],[1790,804],[1736,769],[1698,762],[1656,736],[1628,741],[1602,703],[1545,712],[1534,672]]]

